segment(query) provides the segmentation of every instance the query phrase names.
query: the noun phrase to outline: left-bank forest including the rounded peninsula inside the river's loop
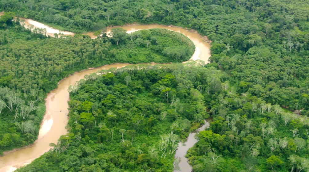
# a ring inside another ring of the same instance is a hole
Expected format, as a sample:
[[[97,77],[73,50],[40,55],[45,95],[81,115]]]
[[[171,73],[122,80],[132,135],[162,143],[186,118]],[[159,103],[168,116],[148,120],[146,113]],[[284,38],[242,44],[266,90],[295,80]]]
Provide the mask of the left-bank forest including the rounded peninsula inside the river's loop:
[[[25,29],[18,19],[12,22],[12,15],[1,16],[4,23],[11,23],[0,30],[0,152],[36,140],[45,94],[70,73],[117,62],[181,62],[194,52],[187,37],[164,29],[139,31],[133,36],[124,32],[117,46],[114,40],[119,28],[112,30],[110,38],[106,34],[100,39],[85,35],[52,38],[42,35],[44,30]],[[181,55],[165,54],[166,48],[178,51],[180,47]]]

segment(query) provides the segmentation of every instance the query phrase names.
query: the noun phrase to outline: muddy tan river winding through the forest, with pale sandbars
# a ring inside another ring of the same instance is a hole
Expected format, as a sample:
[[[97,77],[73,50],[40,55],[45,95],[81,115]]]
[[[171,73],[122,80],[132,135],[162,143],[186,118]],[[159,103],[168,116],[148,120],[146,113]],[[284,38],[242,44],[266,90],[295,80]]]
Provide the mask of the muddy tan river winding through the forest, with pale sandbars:
[[[31,19],[24,19],[24,23],[25,27],[28,27],[32,24],[34,27],[37,28],[45,28],[47,34],[52,36],[54,33],[58,34],[60,32],[63,33],[64,35],[74,35],[74,33],[72,32],[59,31],[51,27],[48,27],[42,23],[33,21]],[[166,28],[172,31],[180,32],[183,35],[187,36],[189,39],[191,39],[196,46],[195,52],[191,59],[193,60],[200,59],[203,60],[205,63],[208,63],[208,58],[210,57],[210,44],[205,42],[205,40],[196,33],[191,33],[185,29],[178,27],[169,27],[162,25],[138,25],[138,26],[125,26],[122,28],[125,29],[128,33],[151,28]],[[110,29],[108,29],[107,32],[110,32]],[[93,36],[93,33],[91,32],[86,34],[90,35],[92,38],[95,38],[95,36]],[[44,154],[51,148],[49,146],[49,143],[57,143],[58,138],[61,135],[67,133],[65,126],[67,125],[68,122],[67,114],[69,106],[67,101],[69,100],[68,87],[70,85],[74,85],[76,81],[83,79],[85,75],[97,72],[98,70],[109,69],[109,68],[122,68],[128,65],[132,64],[117,63],[111,65],[104,65],[100,68],[89,69],[83,72],[76,72],[73,75],[68,76],[67,78],[61,80],[60,84],[58,84],[58,88],[51,91],[47,95],[47,98],[45,99],[46,112],[40,127],[38,139],[32,145],[29,145],[26,148],[5,152],[4,153],[5,155],[0,157],[0,171],[11,172],[16,170],[20,166],[24,166],[32,162],[34,159],[40,157],[42,154]],[[192,134],[193,133],[191,133],[188,138],[188,143],[194,142],[194,136],[191,136]],[[189,148],[188,143],[187,147]],[[179,149],[176,152],[176,155],[180,157],[181,161],[180,164],[183,165],[184,162],[186,162],[187,160],[181,159],[181,156],[183,156],[184,158],[185,153],[181,153],[180,150],[182,150],[181,152],[183,152],[184,148],[179,147]],[[185,152],[187,152],[187,150]],[[187,167],[185,167],[185,170],[182,170],[182,172],[187,172],[186,169]],[[190,171],[191,170],[189,170],[188,172]]]

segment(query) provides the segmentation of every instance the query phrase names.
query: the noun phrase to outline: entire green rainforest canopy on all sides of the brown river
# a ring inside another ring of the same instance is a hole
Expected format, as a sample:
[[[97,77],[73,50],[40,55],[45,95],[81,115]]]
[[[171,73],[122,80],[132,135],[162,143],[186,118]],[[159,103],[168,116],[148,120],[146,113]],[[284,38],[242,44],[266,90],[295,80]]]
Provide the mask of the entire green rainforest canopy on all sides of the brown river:
[[[175,144],[209,116],[187,154],[193,171],[309,170],[307,1],[0,2],[0,152],[36,140],[46,93],[70,73],[176,62],[103,71],[71,87],[68,134],[18,171],[172,171]],[[18,17],[80,34],[52,38]],[[167,30],[104,35],[132,23],[207,35],[211,63],[177,63],[194,45]]]

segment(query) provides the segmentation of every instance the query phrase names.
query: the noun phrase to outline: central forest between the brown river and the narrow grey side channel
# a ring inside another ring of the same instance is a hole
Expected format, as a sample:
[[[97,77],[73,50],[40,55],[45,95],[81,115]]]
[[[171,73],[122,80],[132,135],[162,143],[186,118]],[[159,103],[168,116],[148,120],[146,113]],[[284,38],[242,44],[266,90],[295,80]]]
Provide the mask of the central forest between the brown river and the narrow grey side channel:
[[[172,171],[178,143],[224,73],[197,63],[139,65],[86,76],[70,89],[69,133],[18,171]]]

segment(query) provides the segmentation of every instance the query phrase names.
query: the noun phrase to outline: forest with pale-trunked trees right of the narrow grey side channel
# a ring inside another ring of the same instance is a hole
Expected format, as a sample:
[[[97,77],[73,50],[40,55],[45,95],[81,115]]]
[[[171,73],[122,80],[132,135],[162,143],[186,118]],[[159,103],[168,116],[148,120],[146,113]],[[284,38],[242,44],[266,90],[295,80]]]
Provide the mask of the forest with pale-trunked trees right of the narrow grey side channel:
[[[221,86],[206,96],[213,119],[187,154],[194,172],[309,170],[307,116]]]

